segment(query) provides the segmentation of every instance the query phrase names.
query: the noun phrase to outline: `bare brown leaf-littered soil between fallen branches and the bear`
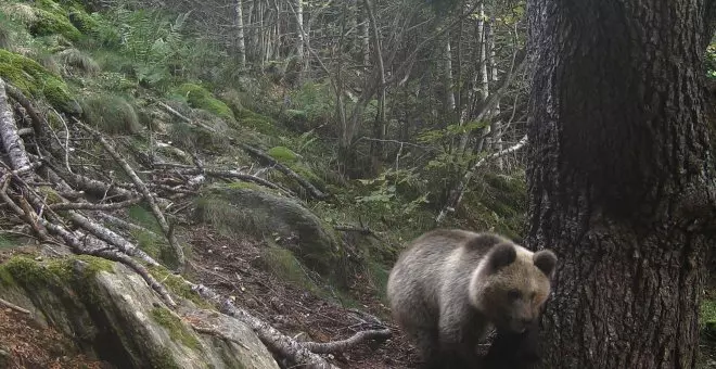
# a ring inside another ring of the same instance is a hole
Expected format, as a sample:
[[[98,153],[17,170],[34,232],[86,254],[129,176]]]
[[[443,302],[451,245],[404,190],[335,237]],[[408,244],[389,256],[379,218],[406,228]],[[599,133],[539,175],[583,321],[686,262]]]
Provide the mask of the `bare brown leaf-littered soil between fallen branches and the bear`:
[[[236,306],[270,322],[281,332],[305,341],[329,342],[350,338],[367,329],[351,308],[378,317],[391,328],[384,342],[362,342],[335,355],[331,361],[344,369],[415,368],[413,346],[389,319],[389,310],[376,297],[366,276],[356,276],[349,285],[358,306],[342,306],[306,292],[305,288],[280,280],[261,267],[263,241],[234,240],[197,227],[184,236],[192,244],[192,280],[217,292],[235,296]]]

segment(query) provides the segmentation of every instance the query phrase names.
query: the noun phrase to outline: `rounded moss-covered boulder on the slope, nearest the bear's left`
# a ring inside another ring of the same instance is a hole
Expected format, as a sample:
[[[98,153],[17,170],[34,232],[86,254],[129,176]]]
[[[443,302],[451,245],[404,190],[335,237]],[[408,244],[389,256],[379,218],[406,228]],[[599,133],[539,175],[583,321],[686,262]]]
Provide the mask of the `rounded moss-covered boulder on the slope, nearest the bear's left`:
[[[257,238],[295,240],[296,256],[317,272],[343,279],[338,238],[323,220],[301,203],[271,191],[217,186],[196,201],[200,220],[219,229]]]

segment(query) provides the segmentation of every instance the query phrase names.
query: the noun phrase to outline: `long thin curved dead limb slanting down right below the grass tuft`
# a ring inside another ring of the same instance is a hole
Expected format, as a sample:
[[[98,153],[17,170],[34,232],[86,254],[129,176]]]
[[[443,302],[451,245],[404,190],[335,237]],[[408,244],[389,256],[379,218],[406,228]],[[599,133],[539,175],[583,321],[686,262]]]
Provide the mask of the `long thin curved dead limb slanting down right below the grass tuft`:
[[[174,249],[175,257],[177,258],[177,264],[179,265],[179,268],[183,268],[187,260],[184,258],[184,251],[181,249],[181,244],[179,244],[179,241],[177,240],[176,236],[171,231],[171,228],[169,227],[169,224],[167,222],[167,219],[164,217],[164,214],[159,209],[159,206],[156,204],[156,200],[150,192],[149,188],[146,184],[144,184],[144,181],[137,176],[137,173],[135,169],[129,166],[129,163],[125,161],[119,153],[114,150],[114,148],[107,142],[107,140],[102,137],[98,131],[94,129],[88,127],[87,125],[82,124],[79,120],[75,119],[75,124],[77,124],[80,128],[85,129],[88,131],[92,137],[94,137],[102,147],[104,147],[104,150],[106,150],[107,153],[122,166],[122,168],[125,170],[127,176],[131,178],[132,182],[139,189],[139,191],[142,193],[144,196],[144,200],[146,203],[150,205],[150,208],[152,209],[152,214],[154,214],[154,217],[156,218],[156,221],[159,224],[159,227],[162,228],[162,231],[164,232],[164,236],[166,236],[167,240],[169,240],[169,245]]]

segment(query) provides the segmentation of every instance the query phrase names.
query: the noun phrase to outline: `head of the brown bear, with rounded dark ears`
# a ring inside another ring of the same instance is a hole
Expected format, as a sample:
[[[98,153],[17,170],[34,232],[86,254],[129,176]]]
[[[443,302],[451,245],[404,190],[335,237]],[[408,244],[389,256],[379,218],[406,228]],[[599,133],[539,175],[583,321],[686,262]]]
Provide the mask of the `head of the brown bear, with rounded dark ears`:
[[[550,293],[557,256],[511,242],[494,245],[470,280],[470,302],[498,330],[523,332],[539,317]]]

